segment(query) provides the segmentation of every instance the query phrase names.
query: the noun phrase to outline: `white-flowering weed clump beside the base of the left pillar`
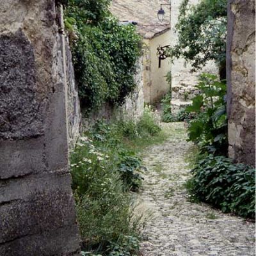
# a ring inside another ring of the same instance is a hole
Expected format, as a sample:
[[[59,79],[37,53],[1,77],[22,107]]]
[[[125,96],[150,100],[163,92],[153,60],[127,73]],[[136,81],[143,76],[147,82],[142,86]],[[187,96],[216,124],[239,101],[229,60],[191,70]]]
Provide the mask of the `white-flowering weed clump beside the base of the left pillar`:
[[[77,221],[86,251],[107,252],[122,236],[138,237],[134,202],[118,170],[124,159],[116,157],[88,137],[80,138],[70,157]]]

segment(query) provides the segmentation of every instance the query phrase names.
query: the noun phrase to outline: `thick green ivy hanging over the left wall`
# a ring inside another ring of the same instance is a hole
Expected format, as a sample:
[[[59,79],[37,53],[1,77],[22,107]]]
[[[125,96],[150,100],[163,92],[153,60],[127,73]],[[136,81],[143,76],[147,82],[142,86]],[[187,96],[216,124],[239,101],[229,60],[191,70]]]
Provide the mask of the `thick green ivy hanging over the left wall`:
[[[136,84],[141,38],[132,25],[122,26],[108,11],[109,0],[69,0],[65,26],[81,106],[87,111],[109,102],[122,104]],[[74,36],[76,35],[76,36]]]

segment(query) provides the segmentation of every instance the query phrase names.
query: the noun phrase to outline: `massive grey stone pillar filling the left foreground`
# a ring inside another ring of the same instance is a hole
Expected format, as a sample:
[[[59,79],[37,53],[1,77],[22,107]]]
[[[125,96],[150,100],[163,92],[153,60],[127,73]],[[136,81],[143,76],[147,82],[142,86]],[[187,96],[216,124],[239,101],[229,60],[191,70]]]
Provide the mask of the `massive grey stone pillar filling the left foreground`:
[[[67,83],[53,0],[0,4],[0,255],[76,255]]]

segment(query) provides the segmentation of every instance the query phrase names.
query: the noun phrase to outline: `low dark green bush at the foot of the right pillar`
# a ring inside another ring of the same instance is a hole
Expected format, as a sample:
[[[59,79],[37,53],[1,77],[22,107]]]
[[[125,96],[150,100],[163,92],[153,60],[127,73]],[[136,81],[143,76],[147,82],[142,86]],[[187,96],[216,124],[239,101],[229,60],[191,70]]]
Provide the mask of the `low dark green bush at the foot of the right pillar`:
[[[246,218],[255,218],[255,169],[213,155],[196,163],[187,188],[192,198]]]

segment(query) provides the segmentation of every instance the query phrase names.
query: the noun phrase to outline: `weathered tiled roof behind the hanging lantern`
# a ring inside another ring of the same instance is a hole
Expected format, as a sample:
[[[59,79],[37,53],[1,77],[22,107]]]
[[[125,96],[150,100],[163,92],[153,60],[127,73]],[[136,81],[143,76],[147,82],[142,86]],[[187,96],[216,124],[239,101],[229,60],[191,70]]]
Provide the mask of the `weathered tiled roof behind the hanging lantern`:
[[[166,13],[163,22],[157,19],[160,4],[168,0],[112,0],[111,12],[120,21],[138,22],[138,31],[144,38],[152,38],[170,29],[170,6],[163,6]]]

